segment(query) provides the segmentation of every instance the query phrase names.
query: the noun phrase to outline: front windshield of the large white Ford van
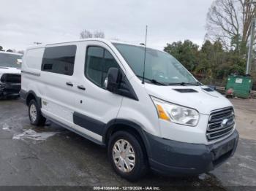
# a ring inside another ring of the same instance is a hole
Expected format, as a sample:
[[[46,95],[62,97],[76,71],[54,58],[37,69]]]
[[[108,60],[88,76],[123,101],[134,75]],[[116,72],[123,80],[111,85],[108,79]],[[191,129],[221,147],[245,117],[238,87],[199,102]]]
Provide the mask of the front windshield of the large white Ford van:
[[[142,79],[145,47],[113,43],[127,61],[132,71]],[[200,82],[185,67],[166,52],[146,48],[145,64],[146,82],[157,82],[158,85],[199,85]]]

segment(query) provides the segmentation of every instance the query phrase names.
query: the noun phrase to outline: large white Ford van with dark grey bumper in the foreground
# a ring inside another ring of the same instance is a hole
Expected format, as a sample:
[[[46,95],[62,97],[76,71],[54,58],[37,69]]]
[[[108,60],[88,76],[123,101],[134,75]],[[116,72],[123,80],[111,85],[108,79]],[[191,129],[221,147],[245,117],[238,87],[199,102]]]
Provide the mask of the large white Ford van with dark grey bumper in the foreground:
[[[148,168],[211,171],[238,144],[230,101],[171,55],[140,45],[86,39],[31,47],[21,89],[31,124],[47,118],[107,147],[114,170],[130,181]]]

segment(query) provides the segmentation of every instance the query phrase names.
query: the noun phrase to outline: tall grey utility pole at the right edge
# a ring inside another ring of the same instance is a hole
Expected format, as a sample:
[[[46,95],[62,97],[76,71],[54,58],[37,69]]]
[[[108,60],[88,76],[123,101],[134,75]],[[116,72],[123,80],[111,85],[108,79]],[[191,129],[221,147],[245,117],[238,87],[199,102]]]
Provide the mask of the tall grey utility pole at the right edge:
[[[254,4],[256,6],[256,0],[252,0],[250,4]],[[253,49],[253,43],[255,39],[255,22],[256,18],[252,18],[252,24],[251,24],[251,37],[249,42],[249,50],[248,50],[248,58],[247,58],[247,64],[246,64],[246,75],[249,75],[251,73],[251,65],[252,65],[252,49]]]

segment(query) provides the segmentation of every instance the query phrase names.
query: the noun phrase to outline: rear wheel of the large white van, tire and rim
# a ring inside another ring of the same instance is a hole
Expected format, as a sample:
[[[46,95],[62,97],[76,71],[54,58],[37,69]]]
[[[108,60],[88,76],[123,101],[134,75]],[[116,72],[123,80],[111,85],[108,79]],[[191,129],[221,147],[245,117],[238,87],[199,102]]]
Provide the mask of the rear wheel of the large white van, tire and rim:
[[[45,117],[42,116],[37,101],[34,99],[29,102],[29,120],[32,125],[45,125]]]

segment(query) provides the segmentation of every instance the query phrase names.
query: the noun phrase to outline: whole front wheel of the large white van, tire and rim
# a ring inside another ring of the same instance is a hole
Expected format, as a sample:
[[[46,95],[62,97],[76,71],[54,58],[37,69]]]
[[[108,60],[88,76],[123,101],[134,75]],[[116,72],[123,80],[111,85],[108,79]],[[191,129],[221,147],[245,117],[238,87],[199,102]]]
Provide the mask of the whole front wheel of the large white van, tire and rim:
[[[140,179],[148,170],[142,143],[126,131],[118,131],[110,137],[108,157],[116,173],[132,182]]]

